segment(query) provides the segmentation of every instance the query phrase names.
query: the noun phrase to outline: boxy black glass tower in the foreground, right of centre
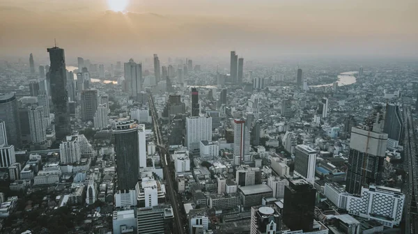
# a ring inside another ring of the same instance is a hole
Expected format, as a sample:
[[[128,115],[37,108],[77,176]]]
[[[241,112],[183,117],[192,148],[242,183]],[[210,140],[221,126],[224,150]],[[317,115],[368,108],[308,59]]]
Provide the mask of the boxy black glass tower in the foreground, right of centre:
[[[291,231],[314,228],[316,189],[305,180],[290,180],[284,189],[283,222]]]

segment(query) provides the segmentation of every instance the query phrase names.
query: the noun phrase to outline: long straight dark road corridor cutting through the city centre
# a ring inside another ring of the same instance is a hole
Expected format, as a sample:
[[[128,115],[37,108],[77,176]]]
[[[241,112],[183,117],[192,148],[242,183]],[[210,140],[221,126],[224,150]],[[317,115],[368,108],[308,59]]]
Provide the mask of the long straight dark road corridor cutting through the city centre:
[[[185,234],[185,225],[183,225],[183,222],[181,221],[181,214],[180,214],[180,208],[178,203],[178,194],[176,193],[176,189],[174,189],[173,184],[173,178],[171,177],[171,167],[167,162],[170,160],[167,159],[167,155],[169,155],[168,150],[166,146],[164,145],[162,141],[162,134],[161,134],[161,128],[160,123],[158,122],[158,115],[157,111],[154,106],[154,99],[151,93],[149,93],[148,97],[148,103],[151,110],[151,116],[153,118],[153,125],[154,125],[154,134],[155,134],[155,141],[157,141],[157,148],[160,150],[160,162],[162,164],[162,168],[164,171],[164,177],[166,180],[166,192],[167,196],[170,198],[171,207],[173,208],[174,213],[174,221],[175,225],[173,226],[172,233],[175,234]]]

